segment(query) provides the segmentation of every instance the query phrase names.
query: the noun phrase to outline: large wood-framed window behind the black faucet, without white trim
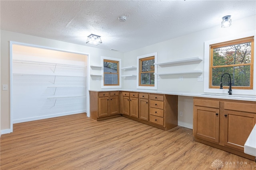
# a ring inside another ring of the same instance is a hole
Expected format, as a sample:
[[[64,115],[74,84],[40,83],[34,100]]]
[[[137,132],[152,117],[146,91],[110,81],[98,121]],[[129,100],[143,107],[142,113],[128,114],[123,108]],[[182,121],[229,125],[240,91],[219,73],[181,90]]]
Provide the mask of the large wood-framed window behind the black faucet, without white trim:
[[[222,74],[229,73],[233,89],[253,89],[254,37],[210,45],[209,62],[209,88],[220,88]]]

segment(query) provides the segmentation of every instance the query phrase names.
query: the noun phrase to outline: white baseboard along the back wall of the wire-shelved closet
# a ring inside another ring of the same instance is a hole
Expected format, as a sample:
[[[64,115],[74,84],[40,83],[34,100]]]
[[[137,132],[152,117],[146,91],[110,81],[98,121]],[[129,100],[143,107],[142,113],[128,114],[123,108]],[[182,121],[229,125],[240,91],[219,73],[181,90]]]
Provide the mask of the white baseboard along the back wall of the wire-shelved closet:
[[[77,110],[77,111],[70,111],[70,112],[65,112],[65,113],[56,113],[56,114],[52,114],[52,115],[28,117],[28,118],[25,118],[25,119],[16,119],[16,120],[13,120],[12,122],[13,122],[13,124],[15,124],[15,123],[22,123],[22,122],[27,122],[27,121],[40,120],[40,119],[48,119],[48,118],[52,118],[52,117],[60,117],[60,116],[66,116],[66,115],[73,115],[73,114],[78,114],[78,113],[86,113],[86,110]]]

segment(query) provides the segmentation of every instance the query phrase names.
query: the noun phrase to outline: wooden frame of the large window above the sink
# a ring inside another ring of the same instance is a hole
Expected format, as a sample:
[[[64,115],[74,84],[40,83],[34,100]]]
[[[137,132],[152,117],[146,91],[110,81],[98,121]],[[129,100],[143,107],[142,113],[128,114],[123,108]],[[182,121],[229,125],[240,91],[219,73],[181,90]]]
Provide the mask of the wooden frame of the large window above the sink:
[[[249,41],[250,40],[250,41]],[[251,63],[247,64],[231,64],[231,65],[222,65],[222,66],[213,66],[213,49],[220,47],[227,47],[241,43],[251,42]],[[209,66],[209,88],[220,88],[220,86],[212,85],[212,68],[225,68],[225,67],[234,67],[234,66],[248,66],[250,65],[250,86],[232,86],[232,89],[253,89],[253,70],[254,70],[254,36],[234,39],[231,41],[225,41],[221,43],[215,43],[210,45],[210,66]],[[223,86],[223,88],[228,89],[228,86]]]

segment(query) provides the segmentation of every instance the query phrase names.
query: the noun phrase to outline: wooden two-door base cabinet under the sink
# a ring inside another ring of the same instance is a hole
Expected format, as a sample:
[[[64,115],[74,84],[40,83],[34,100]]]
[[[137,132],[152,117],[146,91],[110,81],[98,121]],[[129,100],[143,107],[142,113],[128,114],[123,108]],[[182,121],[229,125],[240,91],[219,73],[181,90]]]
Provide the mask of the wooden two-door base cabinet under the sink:
[[[254,160],[244,144],[256,124],[256,102],[194,97],[195,141]]]

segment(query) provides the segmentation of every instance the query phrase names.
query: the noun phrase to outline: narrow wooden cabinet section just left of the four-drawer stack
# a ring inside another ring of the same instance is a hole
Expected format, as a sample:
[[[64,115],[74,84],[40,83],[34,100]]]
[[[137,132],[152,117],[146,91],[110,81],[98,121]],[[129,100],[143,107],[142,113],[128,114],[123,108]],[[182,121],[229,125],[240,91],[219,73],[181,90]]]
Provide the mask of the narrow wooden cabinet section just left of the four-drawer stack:
[[[148,94],[139,94],[139,119],[148,121],[149,115],[149,101]]]

